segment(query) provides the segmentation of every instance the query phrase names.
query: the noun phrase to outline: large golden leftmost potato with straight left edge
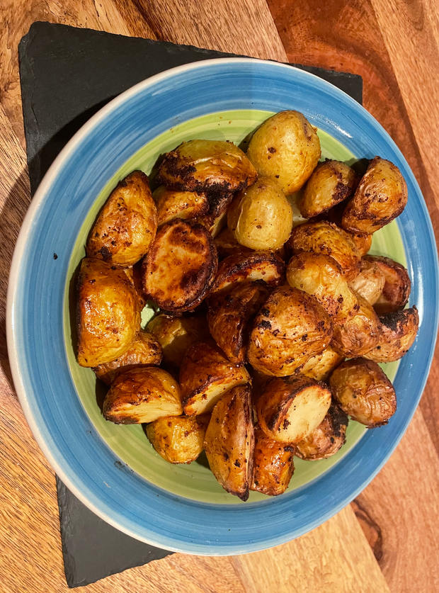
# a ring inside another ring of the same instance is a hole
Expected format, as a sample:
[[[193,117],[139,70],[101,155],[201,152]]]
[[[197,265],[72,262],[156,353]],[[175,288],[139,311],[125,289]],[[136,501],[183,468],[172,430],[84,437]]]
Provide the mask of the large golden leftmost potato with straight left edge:
[[[86,257],[81,261],[77,290],[79,364],[114,361],[127,351],[140,329],[139,300],[130,278],[101,259]]]

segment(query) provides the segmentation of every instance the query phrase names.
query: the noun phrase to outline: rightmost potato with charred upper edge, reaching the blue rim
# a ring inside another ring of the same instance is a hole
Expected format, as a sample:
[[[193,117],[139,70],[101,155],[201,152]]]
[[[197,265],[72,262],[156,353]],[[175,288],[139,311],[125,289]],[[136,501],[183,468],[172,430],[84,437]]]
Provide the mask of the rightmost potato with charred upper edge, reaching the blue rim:
[[[392,362],[402,358],[416,338],[419,315],[416,307],[380,315],[378,343],[364,357],[375,362]]]

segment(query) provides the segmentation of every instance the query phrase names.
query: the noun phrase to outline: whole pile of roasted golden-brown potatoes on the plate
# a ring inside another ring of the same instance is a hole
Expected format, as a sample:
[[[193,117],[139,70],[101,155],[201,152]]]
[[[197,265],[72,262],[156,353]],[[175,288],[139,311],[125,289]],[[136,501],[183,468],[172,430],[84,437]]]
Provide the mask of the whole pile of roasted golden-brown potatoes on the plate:
[[[170,463],[205,450],[242,500],[285,492],[294,456],[336,453],[348,417],[386,424],[397,400],[378,363],[418,331],[406,269],[367,255],[406,205],[399,169],[375,157],[359,176],[320,157],[296,111],[266,120],[246,154],[183,142],[154,191],[142,171],[120,181],[79,270],[77,359],[109,387],[106,419],[147,424]]]

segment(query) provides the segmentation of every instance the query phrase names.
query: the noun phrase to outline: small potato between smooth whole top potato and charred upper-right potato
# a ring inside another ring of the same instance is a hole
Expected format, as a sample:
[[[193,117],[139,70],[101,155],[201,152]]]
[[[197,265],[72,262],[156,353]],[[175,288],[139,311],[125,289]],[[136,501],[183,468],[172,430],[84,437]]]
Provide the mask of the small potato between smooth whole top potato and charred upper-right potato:
[[[314,169],[304,186],[300,213],[304,218],[312,218],[327,212],[349,198],[357,183],[355,171],[349,165],[326,159]]]

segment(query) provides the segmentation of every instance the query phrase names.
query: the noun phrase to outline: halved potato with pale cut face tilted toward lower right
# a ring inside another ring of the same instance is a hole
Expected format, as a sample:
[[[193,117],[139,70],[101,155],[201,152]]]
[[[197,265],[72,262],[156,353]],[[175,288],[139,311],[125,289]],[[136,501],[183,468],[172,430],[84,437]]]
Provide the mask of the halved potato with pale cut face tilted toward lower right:
[[[281,443],[298,443],[312,433],[331,405],[328,385],[297,375],[266,384],[256,402],[256,415],[267,436]]]

